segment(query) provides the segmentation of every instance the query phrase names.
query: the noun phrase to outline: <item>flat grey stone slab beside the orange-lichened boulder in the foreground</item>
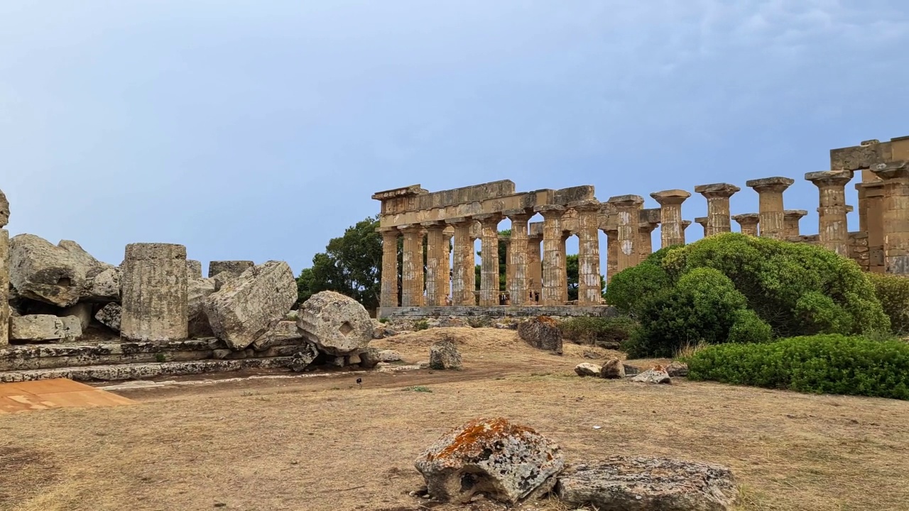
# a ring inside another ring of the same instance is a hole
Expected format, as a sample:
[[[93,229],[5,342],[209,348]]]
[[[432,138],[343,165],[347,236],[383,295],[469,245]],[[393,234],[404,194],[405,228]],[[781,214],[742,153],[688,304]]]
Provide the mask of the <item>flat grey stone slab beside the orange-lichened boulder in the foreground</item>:
[[[738,496],[725,466],[631,456],[569,466],[556,491],[572,506],[615,511],[726,511]]]

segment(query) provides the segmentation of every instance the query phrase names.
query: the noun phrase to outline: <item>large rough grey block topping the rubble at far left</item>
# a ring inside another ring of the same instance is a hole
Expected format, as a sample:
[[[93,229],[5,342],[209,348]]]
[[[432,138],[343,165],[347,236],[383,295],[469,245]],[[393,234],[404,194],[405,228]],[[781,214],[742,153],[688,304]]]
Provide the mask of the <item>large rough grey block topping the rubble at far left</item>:
[[[20,296],[72,306],[85,288],[85,266],[43,238],[17,235],[10,240],[10,282]]]

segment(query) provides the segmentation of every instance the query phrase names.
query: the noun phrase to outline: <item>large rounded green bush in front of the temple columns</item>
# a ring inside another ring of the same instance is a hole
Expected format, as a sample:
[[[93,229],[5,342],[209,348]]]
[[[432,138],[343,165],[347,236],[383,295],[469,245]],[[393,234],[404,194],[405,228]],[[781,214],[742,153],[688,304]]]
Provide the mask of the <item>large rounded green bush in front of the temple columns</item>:
[[[605,298],[640,321],[628,343],[634,356],[669,356],[695,342],[854,335],[890,325],[851,259],[734,233],[655,252],[615,275]]]

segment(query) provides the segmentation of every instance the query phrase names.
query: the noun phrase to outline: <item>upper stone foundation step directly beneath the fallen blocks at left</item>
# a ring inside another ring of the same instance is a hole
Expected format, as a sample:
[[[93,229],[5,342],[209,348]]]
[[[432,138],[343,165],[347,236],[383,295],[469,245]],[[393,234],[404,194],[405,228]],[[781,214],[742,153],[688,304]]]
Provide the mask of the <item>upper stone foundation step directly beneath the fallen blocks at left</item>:
[[[285,340],[272,343],[262,351],[255,351],[253,348],[233,351],[227,349],[224,342],[208,338],[166,343],[113,342],[8,346],[0,349],[0,371],[292,356],[299,351],[298,345],[299,341]]]

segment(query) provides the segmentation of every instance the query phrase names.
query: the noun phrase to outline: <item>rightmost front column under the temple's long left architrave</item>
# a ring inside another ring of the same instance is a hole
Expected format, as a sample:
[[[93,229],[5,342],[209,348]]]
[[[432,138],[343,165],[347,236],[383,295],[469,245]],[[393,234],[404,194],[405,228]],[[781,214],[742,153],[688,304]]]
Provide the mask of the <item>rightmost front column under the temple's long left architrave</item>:
[[[598,306],[603,301],[600,286],[600,203],[595,200],[569,204],[578,214],[577,304]],[[565,286],[567,290],[567,286]]]

